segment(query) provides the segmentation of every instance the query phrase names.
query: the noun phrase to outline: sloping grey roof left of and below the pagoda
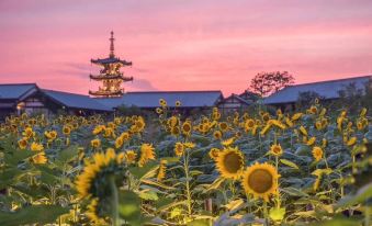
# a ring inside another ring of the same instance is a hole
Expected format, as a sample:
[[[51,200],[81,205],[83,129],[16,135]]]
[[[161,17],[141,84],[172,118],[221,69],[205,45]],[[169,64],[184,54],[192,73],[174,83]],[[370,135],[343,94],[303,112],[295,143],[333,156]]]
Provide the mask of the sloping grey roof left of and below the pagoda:
[[[112,111],[111,108],[99,103],[95,99],[89,98],[89,95],[81,95],[54,90],[42,90],[42,92],[48,98],[67,108],[95,111]]]

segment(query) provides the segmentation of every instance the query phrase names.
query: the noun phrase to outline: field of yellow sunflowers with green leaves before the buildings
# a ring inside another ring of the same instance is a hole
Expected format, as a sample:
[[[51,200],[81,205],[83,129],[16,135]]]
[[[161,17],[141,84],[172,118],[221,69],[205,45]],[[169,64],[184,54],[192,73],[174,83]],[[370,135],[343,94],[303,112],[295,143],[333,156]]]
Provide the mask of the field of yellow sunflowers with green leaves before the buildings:
[[[364,108],[10,116],[0,225],[372,225]]]

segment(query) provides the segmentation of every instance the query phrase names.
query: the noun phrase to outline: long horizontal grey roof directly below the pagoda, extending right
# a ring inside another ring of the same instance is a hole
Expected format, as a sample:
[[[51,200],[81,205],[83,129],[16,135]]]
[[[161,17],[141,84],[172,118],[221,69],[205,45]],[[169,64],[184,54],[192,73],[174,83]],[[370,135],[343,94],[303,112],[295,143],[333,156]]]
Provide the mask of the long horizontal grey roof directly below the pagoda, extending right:
[[[100,103],[117,108],[120,105],[138,108],[158,108],[165,99],[169,106],[181,101],[181,108],[214,106],[222,98],[221,91],[169,91],[169,92],[127,92],[122,98],[97,99]]]

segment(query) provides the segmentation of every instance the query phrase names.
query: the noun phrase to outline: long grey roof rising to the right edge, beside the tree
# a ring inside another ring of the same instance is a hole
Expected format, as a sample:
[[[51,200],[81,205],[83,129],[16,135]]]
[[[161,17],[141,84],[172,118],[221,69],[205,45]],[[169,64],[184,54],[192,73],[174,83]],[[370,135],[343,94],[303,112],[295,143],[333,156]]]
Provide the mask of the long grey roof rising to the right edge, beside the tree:
[[[364,89],[365,83],[369,82],[370,79],[372,79],[372,76],[290,86],[266,98],[263,103],[279,104],[296,102],[298,94],[307,91],[316,92],[325,99],[337,99],[339,98],[338,92],[345,89],[346,86],[356,83],[358,89]]]

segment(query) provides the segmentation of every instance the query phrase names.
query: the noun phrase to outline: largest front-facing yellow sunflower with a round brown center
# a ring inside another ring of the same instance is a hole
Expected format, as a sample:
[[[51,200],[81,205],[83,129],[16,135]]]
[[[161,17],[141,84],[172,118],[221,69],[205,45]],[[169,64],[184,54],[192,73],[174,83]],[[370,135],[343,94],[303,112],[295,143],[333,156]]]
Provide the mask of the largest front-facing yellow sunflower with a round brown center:
[[[270,194],[278,193],[279,177],[275,167],[267,162],[256,162],[244,172],[241,184],[247,194],[253,194],[256,199],[262,197],[268,202]]]

